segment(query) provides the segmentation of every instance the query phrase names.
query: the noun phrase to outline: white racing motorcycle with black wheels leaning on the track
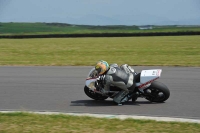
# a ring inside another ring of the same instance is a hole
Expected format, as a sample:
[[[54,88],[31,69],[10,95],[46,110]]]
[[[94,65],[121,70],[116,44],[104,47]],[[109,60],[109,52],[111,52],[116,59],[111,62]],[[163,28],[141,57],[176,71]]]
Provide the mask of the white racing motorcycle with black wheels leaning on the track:
[[[155,81],[161,77],[162,69],[142,70],[140,73],[136,73],[134,69],[128,66],[125,71],[133,73],[135,83],[135,89],[130,92],[128,100],[135,102],[140,97],[150,102],[160,103],[169,98],[170,91],[168,87]],[[109,91],[105,91],[101,76],[98,76],[94,68],[90,70],[84,87],[84,92],[88,97],[94,100],[113,99],[120,91],[120,88],[112,85]],[[123,103],[123,99],[121,102]]]

